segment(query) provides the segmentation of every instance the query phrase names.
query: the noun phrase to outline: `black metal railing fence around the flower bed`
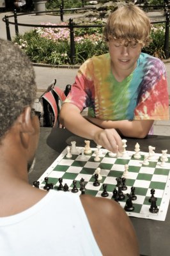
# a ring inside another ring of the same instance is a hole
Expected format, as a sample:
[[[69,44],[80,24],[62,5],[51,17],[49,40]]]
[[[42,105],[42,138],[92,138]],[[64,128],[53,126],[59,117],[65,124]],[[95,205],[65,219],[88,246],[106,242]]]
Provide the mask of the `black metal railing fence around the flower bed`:
[[[144,6],[143,6],[144,7]],[[151,7],[155,7],[155,6],[150,6]],[[166,59],[169,58],[169,7],[167,4],[165,4],[164,6],[159,6],[161,8],[164,8],[164,12],[166,15],[166,19],[165,20],[158,20],[158,21],[154,21],[151,22],[151,24],[161,24],[161,23],[165,23],[166,24],[166,29],[165,29],[165,37],[164,37],[164,52],[165,52],[165,57]],[[94,9],[95,7],[93,7]],[[147,6],[148,8],[148,6]],[[72,8],[72,9],[63,9],[63,6],[60,6],[59,10],[54,10],[52,12],[56,12],[56,13],[60,13],[60,19],[61,21],[63,21],[63,15],[65,12],[68,11],[73,11],[73,10],[88,10],[89,8]],[[91,8],[90,8],[91,9]],[[51,11],[46,11],[45,13],[51,13]],[[31,12],[31,14],[34,13],[42,13],[42,12]],[[43,12],[44,13],[44,12]],[[19,23],[17,21],[17,17],[20,15],[27,15],[30,13],[19,13],[17,14],[17,11],[14,10],[13,15],[5,15],[5,17],[3,18],[3,21],[6,23],[6,36],[7,36],[7,40],[12,40],[11,35],[10,35],[10,24],[13,24],[15,26],[15,35],[19,35],[19,26],[27,26],[27,27],[34,27],[34,28],[68,28],[70,29],[70,64],[74,64],[75,61],[75,40],[74,40],[74,29],[75,28],[99,28],[99,27],[104,27],[104,25],[102,24],[96,24],[96,25],[76,25],[73,23],[73,19],[69,19],[68,25],[40,25],[40,24],[23,24],[23,23]],[[9,21],[9,18],[14,18],[14,22]]]

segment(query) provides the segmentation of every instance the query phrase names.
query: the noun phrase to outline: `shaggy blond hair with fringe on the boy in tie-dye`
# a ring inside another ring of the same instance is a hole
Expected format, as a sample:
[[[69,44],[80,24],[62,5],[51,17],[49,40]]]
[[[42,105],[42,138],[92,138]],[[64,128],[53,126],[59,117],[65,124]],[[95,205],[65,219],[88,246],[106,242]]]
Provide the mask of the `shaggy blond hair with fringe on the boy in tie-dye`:
[[[104,29],[105,40],[134,41],[148,45],[150,42],[150,19],[146,13],[133,3],[121,4],[111,13]]]

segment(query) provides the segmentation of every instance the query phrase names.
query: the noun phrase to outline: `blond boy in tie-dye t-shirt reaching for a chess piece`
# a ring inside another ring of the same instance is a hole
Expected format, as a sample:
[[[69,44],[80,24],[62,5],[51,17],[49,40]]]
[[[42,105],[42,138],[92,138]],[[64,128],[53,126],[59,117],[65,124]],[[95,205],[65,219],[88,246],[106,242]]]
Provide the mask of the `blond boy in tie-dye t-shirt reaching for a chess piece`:
[[[61,124],[117,152],[120,136],[145,138],[154,120],[169,120],[164,63],[141,52],[150,43],[150,30],[147,15],[132,3],[111,13],[104,29],[109,52],[79,68],[61,108]]]

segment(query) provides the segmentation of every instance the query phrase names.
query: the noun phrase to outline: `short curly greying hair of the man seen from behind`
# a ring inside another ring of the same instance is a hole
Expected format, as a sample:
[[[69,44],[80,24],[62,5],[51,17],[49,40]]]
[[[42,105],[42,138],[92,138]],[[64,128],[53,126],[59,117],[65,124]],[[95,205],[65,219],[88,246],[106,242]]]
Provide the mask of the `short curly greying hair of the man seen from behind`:
[[[0,39],[0,141],[36,96],[31,61],[18,45]]]

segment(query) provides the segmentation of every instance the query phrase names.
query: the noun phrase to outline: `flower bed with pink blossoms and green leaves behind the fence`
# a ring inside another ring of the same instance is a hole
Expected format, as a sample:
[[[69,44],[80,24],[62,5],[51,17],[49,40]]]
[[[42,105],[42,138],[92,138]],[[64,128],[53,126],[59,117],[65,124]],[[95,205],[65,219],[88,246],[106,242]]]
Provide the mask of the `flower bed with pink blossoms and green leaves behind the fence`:
[[[61,23],[65,25],[65,23]],[[143,51],[157,58],[165,58],[165,27],[155,24],[151,29],[152,42]],[[22,48],[34,63],[50,65],[70,64],[70,31],[68,28],[38,28],[19,35],[14,42]],[[81,65],[94,55],[108,52],[102,36],[102,28],[75,29],[75,64]]]

